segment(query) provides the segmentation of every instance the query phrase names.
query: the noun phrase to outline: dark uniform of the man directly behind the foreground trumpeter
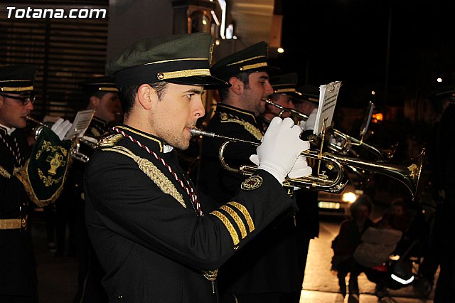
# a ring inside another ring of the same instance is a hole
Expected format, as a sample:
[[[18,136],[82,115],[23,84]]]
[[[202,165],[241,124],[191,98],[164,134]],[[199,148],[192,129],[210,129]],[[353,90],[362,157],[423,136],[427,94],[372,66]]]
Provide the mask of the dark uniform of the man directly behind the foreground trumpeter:
[[[215,115],[208,124],[208,131],[228,137],[260,142],[262,127],[252,112],[229,105],[218,104]],[[225,170],[218,159],[223,139],[203,139],[201,190],[221,201],[235,195],[245,176]],[[225,161],[230,166],[252,164],[250,155],[257,147],[248,144],[232,144],[226,148]],[[277,200],[277,203],[282,201]],[[294,214],[277,218],[245,249],[220,268],[220,292],[255,294],[267,292],[299,292],[303,280],[303,268],[294,225]],[[299,266],[300,265],[300,266]]]

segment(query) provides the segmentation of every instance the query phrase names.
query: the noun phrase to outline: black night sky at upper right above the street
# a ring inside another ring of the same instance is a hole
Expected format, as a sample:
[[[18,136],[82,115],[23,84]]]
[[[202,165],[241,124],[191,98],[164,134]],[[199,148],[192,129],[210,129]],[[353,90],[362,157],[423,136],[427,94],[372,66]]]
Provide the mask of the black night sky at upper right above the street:
[[[300,85],[341,80],[340,106],[363,107],[371,90],[376,104],[400,106],[455,83],[450,1],[282,0],[279,9],[285,53],[272,63],[299,73]]]

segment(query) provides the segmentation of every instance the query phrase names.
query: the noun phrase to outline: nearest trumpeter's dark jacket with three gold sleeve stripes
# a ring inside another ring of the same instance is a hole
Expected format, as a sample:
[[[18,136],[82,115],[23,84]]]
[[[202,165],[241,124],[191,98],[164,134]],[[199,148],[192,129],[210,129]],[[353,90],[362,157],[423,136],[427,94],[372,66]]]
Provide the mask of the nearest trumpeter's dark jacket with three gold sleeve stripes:
[[[165,153],[161,139],[137,129],[118,129],[154,151],[189,190],[176,151]],[[216,302],[216,283],[205,276],[295,203],[258,171],[223,206],[200,197],[199,216],[168,167],[137,142],[120,134],[103,139],[85,170],[87,230],[109,301]]]

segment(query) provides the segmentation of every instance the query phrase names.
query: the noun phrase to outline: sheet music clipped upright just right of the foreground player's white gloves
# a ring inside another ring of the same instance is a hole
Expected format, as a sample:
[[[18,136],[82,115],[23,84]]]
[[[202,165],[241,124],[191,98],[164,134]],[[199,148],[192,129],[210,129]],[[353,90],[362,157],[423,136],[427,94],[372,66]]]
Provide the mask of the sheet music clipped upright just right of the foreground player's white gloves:
[[[319,87],[319,107],[314,124],[314,134],[321,134],[324,122],[326,122],[326,127],[331,125],[340,87],[341,81],[334,81]]]

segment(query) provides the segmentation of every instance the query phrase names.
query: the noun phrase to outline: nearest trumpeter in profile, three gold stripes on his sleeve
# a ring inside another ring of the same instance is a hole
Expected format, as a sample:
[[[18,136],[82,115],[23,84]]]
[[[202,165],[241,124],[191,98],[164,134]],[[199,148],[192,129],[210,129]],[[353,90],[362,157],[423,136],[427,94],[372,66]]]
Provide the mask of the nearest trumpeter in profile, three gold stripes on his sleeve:
[[[257,173],[218,207],[178,165],[175,149],[188,148],[205,114],[204,88],[227,85],[210,75],[212,47],[208,33],[146,39],[107,64],[124,124],[100,140],[84,181],[109,302],[217,302],[218,268],[295,207],[282,182],[309,144],[291,119],[272,121]]]

